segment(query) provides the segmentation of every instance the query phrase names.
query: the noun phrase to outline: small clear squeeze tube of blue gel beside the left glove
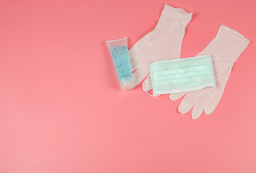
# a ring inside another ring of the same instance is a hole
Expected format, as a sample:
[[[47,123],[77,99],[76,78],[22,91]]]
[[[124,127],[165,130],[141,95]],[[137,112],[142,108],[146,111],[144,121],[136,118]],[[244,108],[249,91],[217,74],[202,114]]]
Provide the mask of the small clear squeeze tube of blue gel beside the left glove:
[[[122,90],[129,90],[134,87],[132,68],[129,62],[127,37],[106,41],[108,50],[111,53],[116,68],[116,74]]]

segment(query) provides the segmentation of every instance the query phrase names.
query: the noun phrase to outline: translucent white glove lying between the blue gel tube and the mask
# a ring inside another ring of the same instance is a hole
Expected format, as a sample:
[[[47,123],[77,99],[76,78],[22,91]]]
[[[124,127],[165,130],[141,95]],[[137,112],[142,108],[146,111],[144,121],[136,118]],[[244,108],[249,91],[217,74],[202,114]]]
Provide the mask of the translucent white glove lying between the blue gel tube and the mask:
[[[185,27],[192,13],[164,5],[155,29],[142,37],[129,50],[134,84],[137,86],[149,74],[149,64],[180,58]]]

